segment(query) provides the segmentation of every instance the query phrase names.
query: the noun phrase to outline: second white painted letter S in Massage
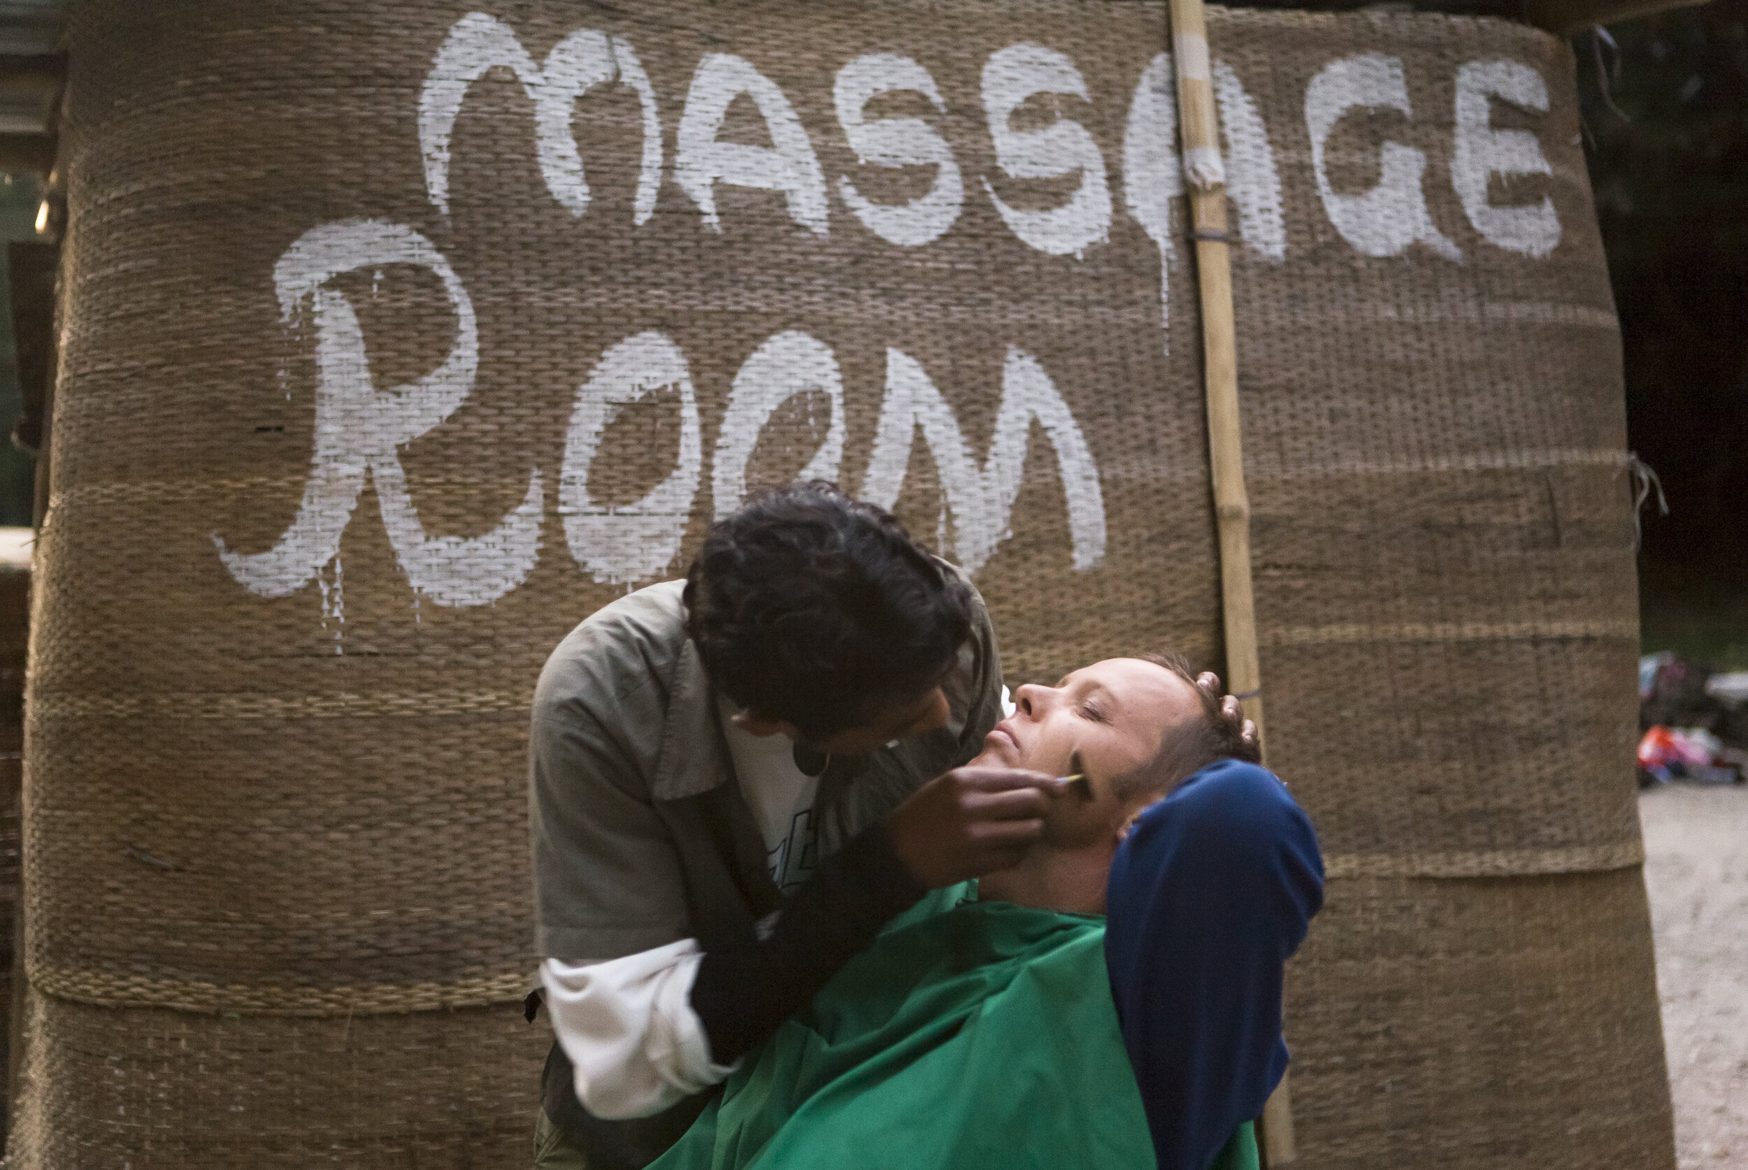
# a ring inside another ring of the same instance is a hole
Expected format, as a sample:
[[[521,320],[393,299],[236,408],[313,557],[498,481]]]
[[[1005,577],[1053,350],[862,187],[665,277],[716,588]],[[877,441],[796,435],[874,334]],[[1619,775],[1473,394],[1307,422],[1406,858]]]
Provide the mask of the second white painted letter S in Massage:
[[[1012,129],[1009,119],[1031,94],[1089,100],[1080,70],[1054,49],[1017,44],[989,54],[982,70],[982,103],[996,166],[1010,178],[1061,178],[1079,173],[1080,185],[1068,203],[1047,211],[1012,208],[995,194],[988,178],[982,185],[1002,213],[1002,222],[1026,244],[1058,257],[1079,257],[1110,236],[1105,155],[1087,127],[1070,119],[1059,119],[1044,129]]]

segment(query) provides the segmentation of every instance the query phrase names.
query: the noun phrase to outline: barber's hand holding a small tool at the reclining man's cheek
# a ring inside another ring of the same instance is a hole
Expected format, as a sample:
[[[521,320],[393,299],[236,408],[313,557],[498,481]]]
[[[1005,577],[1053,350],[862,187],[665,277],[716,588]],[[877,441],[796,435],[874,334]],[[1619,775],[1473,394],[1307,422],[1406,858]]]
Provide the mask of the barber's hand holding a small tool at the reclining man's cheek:
[[[1044,833],[1044,772],[954,768],[911,793],[886,817],[891,850],[930,889],[1016,864]]]

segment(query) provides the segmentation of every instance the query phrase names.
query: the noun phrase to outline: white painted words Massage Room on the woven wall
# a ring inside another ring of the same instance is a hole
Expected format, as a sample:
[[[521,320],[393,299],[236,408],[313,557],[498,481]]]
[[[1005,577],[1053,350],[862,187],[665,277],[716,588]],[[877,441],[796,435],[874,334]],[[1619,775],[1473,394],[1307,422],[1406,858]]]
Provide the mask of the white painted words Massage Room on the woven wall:
[[[629,40],[579,30],[565,37],[544,63],[535,63],[516,31],[481,12],[461,17],[439,47],[425,75],[418,105],[420,150],[427,197],[449,213],[449,143],[468,87],[491,70],[514,73],[533,103],[537,161],[551,196],[570,215],[589,215],[587,168],[577,141],[579,112],[600,87],[624,86],[642,108],[642,159],[633,201],[633,231],[656,217],[661,187],[669,178],[696,206],[699,232],[724,232],[717,203],[722,185],[778,192],[795,231],[816,237],[865,231],[893,248],[918,250],[947,236],[968,199],[989,199],[1007,229],[1026,246],[1075,262],[1108,246],[1117,199],[1108,162],[1086,126],[1058,114],[1042,127],[1016,129],[1014,115],[1035,96],[1094,101],[1080,68],[1066,54],[1038,44],[1014,44],[982,66],[981,98],[996,168],[1007,180],[1073,182],[1058,206],[1012,206],[989,176],[972,182],[953,143],[919,117],[869,117],[883,94],[919,94],[946,112],[933,75],[912,58],[871,52],[848,59],[836,73],[832,108],[855,157],[877,168],[933,168],[926,192],[902,204],[864,196],[850,176],[827,180],[808,129],[788,96],[752,61],[704,54],[692,73],[666,155],[662,103]],[[1238,73],[1210,59],[1206,44],[1161,52],[1127,89],[1122,134],[1120,196],[1124,211],[1157,246],[1161,260],[1161,325],[1169,328],[1166,272],[1176,265],[1173,222],[1183,231],[1178,206],[1185,194],[1176,148],[1175,68],[1211,80],[1225,138],[1225,155],[1196,159],[1196,171],[1224,182],[1238,211],[1238,236],[1271,264],[1288,257],[1287,217],[1276,148],[1257,103]],[[1550,175],[1536,136],[1493,124],[1496,101],[1524,112],[1549,110],[1543,77],[1510,59],[1463,63],[1454,79],[1454,134],[1449,175],[1454,194],[1486,246],[1530,258],[1547,257],[1561,239],[1550,197],[1528,204],[1495,204],[1489,183],[1524,175]],[[750,100],[769,133],[769,145],[720,138],[729,107]],[[1433,224],[1425,194],[1425,152],[1398,141],[1379,150],[1376,183],[1360,192],[1337,190],[1325,147],[1349,114],[1398,112],[1412,119],[1404,63],[1379,52],[1327,63],[1304,91],[1304,126],[1311,141],[1314,189],[1328,222],[1363,257],[1398,257],[1412,246],[1439,262],[1463,264],[1460,246]],[[834,218],[832,201],[850,213]],[[666,217],[664,217],[666,218]],[[334,278],[383,265],[418,265],[434,274],[454,318],[454,342],[432,372],[416,381],[378,388],[365,356],[364,330]],[[420,595],[442,606],[488,604],[516,588],[533,569],[545,519],[545,480],[537,466],[523,501],[482,536],[428,534],[409,494],[397,451],[444,423],[472,393],[479,368],[479,327],[467,288],[437,244],[421,232],[379,218],[348,218],[311,227],[280,257],[274,292],[287,323],[315,323],[316,402],[315,452],[295,520],[262,552],[231,548],[213,534],[225,568],[262,597],[285,597],[309,583],[334,561],[369,477],[397,561]],[[680,442],[671,473],[642,499],[607,506],[589,494],[589,470],[607,428],[628,403],[657,391],[676,395]],[[664,332],[645,330],[601,353],[579,388],[558,468],[558,505],[566,545],[596,582],[631,583],[661,576],[680,552],[689,517],[710,480],[715,517],[731,515],[746,494],[746,466],[760,430],[797,395],[823,393],[829,424],[804,478],[837,478],[844,456],[844,386],[834,351],[799,328],[781,330],[745,356],[729,386],[718,440],[706,471],[699,396],[680,346]],[[953,555],[975,573],[1009,534],[1021,487],[1031,423],[1054,449],[1061,473],[1072,561],[1075,569],[1105,557],[1105,503],[1096,452],[1058,393],[1045,365],[1010,346],[1002,368],[1002,396],[993,438],[979,461],[953,407],[921,361],[902,348],[886,349],[884,396],[860,498],[891,508],[907,473],[918,430],[935,463],[946,513],[953,520]]]

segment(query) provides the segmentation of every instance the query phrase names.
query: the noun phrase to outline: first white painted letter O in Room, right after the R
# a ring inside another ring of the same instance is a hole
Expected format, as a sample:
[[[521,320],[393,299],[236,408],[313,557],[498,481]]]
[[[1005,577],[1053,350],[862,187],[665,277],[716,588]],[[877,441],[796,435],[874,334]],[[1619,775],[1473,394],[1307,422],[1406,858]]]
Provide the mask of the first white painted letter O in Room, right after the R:
[[[669,386],[680,393],[680,454],[673,471],[636,503],[596,503],[589,496],[589,468],[619,407]],[[570,555],[601,583],[636,582],[666,569],[685,538],[703,463],[697,395],[680,348],[650,330],[608,349],[577,391],[565,437],[558,503]]]

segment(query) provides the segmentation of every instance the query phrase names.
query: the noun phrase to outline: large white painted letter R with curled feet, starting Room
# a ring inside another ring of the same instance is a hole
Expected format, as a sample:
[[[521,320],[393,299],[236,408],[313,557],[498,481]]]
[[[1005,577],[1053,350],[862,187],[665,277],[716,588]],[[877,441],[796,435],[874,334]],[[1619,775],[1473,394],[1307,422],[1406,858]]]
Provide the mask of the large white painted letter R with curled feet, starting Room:
[[[379,393],[371,379],[364,330],[344,295],[327,281],[360,267],[414,264],[432,271],[456,316],[456,339],[442,365]],[[241,554],[213,543],[231,576],[262,597],[302,588],[339,554],[341,534],[372,477],[383,526],[407,580],[437,604],[475,606],[516,588],[540,554],[540,471],[523,503],[481,538],[428,538],[407,496],[397,447],[449,417],[474,388],[479,328],[467,290],[437,248],[411,227],[341,220],[304,232],[273,269],[280,311],[292,321],[308,300],[316,321],[315,454],[297,519],[273,548]]]

